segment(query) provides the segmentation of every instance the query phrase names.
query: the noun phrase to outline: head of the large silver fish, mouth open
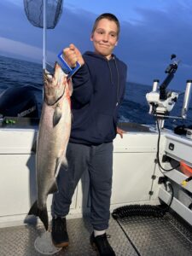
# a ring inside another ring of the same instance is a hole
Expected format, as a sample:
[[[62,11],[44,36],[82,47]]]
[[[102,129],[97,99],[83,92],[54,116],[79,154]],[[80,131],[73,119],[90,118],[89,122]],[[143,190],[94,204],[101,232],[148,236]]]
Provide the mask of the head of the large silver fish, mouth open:
[[[68,87],[67,74],[57,62],[55,62],[53,75],[44,70],[44,101],[48,105],[52,106],[58,102]]]

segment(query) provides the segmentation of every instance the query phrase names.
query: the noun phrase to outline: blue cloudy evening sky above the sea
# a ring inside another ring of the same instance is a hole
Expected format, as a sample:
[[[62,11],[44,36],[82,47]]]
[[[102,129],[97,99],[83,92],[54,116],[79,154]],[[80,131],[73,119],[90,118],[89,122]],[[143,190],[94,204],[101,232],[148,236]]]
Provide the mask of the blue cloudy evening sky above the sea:
[[[161,83],[175,54],[180,62],[169,86],[185,89],[186,80],[192,79],[191,0],[64,0],[58,24],[47,30],[47,61],[57,61],[61,49],[71,43],[82,53],[93,50],[91,28],[96,16],[105,12],[119,19],[114,54],[127,64],[128,81]],[[0,55],[42,62],[43,29],[27,20],[23,0],[0,1]]]

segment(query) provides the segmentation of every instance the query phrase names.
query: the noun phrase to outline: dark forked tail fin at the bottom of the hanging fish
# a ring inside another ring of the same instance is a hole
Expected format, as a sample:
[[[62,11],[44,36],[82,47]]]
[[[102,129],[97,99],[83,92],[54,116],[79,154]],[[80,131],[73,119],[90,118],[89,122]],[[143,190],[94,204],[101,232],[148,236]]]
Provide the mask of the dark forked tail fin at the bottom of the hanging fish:
[[[44,209],[39,209],[38,201],[35,201],[31,209],[29,210],[28,215],[35,215],[39,217],[44,224],[45,230],[48,230],[49,219],[48,219],[47,207],[44,207]]]

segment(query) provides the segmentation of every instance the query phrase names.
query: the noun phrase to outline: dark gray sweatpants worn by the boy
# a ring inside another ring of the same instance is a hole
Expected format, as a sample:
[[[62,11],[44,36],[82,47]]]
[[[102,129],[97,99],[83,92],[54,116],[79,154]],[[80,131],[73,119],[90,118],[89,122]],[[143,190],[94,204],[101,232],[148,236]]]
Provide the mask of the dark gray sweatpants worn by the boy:
[[[94,230],[108,229],[113,174],[113,143],[98,146],[68,143],[67,170],[61,166],[57,177],[59,192],[53,197],[52,210],[66,216],[74,190],[83,172],[90,174],[90,221]]]

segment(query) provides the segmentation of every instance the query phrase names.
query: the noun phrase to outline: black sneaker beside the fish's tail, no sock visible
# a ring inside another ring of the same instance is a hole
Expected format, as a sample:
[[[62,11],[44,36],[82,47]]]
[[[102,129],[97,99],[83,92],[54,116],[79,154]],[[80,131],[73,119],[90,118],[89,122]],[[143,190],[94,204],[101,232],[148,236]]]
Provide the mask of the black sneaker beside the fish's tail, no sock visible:
[[[51,236],[55,247],[68,246],[66,218],[57,217],[52,219]]]

